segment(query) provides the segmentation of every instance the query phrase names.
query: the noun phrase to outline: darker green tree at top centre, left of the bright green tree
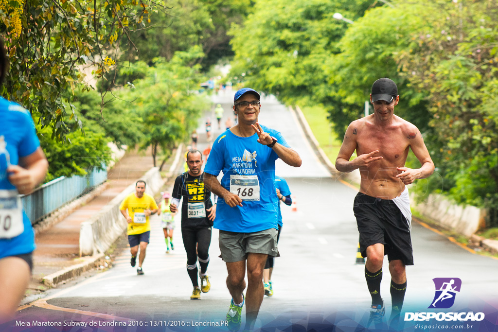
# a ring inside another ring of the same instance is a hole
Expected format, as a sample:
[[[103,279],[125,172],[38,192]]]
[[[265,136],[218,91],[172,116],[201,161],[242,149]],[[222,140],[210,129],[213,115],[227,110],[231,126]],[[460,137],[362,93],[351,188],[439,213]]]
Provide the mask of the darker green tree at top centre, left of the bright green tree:
[[[249,0],[172,0],[166,12],[151,16],[151,28],[131,33],[139,52],[131,45],[126,57],[130,61],[152,61],[155,57],[170,60],[176,51],[202,47],[204,55],[196,59],[203,71],[220,58],[233,55],[227,30],[240,22],[248,11]]]

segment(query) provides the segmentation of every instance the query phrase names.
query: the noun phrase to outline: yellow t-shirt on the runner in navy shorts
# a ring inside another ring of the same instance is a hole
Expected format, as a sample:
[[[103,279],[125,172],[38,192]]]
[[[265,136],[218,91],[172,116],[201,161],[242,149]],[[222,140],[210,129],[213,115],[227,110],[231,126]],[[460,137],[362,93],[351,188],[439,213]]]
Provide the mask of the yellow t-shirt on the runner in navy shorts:
[[[144,211],[158,209],[154,198],[143,193],[141,198],[135,193],[129,194],[121,203],[120,210],[128,209],[128,215],[132,222],[128,223],[128,235],[141,234],[150,230],[149,216],[145,216]]]

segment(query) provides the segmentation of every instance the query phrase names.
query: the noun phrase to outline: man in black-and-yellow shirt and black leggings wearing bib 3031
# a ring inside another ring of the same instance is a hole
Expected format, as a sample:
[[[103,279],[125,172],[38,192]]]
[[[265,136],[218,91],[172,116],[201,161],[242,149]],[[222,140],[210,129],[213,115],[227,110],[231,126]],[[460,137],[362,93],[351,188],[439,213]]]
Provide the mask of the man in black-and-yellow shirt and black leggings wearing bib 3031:
[[[189,170],[179,175],[173,187],[173,199],[170,211],[177,212],[182,202],[182,238],[185,251],[187,252],[187,272],[192,280],[194,291],[191,300],[201,298],[203,293],[209,292],[211,283],[207,274],[209,264],[209,245],[211,244],[211,228],[216,217],[216,201],[211,203],[211,191],[204,187],[204,172],[202,171],[202,154],[198,150],[190,150],[187,153],[187,165]],[[197,279],[197,258],[201,271],[201,287]]]

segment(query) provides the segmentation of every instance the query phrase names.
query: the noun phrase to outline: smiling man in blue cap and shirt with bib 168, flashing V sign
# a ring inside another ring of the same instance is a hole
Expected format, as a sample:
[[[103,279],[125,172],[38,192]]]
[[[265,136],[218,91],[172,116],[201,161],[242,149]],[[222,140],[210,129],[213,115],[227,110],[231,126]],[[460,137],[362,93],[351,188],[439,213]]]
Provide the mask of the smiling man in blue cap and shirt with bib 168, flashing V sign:
[[[263,300],[263,267],[268,255],[278,257],[278,198],[275,161],[299,167],[301,158],[280,132],[260,125],[259,94],[250,88],[235,93],[239,123],[222,133],[204,169],[205,185],[218,195],[214,227],[220,229],[221,257],[227,264],[232,303],[227,314],[230,331],[241,327],[244,277],[248,271],[246,329],[254,326]],[[221,183],[217,176],[223,171]]]

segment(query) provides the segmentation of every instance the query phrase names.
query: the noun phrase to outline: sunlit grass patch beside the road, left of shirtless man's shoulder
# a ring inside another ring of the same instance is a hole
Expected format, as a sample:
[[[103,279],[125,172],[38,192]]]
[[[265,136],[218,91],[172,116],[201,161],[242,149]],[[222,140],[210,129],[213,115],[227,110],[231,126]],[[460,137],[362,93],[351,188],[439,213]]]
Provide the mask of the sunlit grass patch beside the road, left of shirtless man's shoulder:
[[[304,117],[308,121],[311,131],[313,131],[313,135],[315,135],[323,152],[334,164],[339,154],[342,140],[339,140],[337,134],[332,131],[332,125],[327,118],[327,111],[319,106],[303,107],[301,111],[303,111]]]

